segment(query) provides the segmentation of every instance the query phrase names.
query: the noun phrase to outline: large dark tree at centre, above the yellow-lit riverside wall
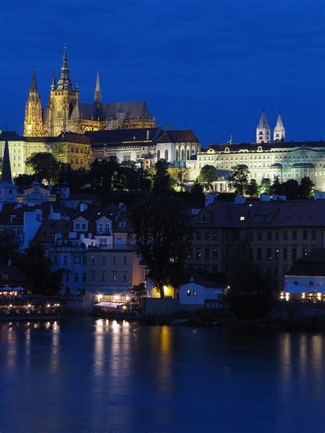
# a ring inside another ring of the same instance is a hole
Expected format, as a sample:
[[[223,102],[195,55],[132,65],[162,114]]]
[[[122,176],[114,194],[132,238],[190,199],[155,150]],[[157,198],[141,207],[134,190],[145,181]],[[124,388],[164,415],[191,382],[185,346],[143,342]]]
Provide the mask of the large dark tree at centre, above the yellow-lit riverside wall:
[[[145,197],[128,208],[128,219],[148,277],[163,298],[164,286],[177,284],[184,268],[189,232],[184,203],[175,196]]]

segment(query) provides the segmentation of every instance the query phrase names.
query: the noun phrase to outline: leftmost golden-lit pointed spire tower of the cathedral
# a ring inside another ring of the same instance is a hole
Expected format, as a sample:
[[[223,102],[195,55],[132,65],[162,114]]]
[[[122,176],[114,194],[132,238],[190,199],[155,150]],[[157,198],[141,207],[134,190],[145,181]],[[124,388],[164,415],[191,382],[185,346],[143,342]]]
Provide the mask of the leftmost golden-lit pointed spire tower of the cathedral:
[[[35,137],[43,135],[42,104],[36,86],[35,69],[33,69],[32,84],[25,108],[24,136]]]

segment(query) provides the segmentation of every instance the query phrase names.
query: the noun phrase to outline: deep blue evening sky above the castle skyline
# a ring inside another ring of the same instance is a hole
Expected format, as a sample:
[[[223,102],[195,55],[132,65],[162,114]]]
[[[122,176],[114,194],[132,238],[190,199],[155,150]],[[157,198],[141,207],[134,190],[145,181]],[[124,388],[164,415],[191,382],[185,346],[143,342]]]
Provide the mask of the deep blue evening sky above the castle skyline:
[[[80,99],[145,100],[202,145],[255,140],[265,106],[287,140],[324,139],[324,0],[1,2],[0,128],[23,132],[32,67],[43,105],[64,43]]]

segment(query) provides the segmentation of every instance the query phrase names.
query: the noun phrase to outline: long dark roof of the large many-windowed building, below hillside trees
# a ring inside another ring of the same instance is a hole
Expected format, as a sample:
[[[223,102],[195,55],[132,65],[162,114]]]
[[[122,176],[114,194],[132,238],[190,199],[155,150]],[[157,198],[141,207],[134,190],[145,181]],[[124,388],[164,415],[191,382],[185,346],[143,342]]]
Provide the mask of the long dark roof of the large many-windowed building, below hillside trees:
[[[206,214],[202,221],[201,214]],[[193,217],[196,227],[250,229],[258,227],[325,226],[325,200],[234,201],[211,203]]]

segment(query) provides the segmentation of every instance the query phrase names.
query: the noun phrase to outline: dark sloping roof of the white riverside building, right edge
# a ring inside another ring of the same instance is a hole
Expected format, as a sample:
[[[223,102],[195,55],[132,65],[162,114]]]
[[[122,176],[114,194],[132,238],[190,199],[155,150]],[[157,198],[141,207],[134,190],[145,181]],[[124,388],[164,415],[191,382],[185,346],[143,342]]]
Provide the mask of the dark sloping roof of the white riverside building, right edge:
[[[295,260],[286,275],[325,277],[325,248],[314,249],[306,256]]]

